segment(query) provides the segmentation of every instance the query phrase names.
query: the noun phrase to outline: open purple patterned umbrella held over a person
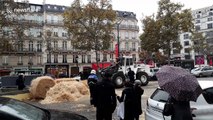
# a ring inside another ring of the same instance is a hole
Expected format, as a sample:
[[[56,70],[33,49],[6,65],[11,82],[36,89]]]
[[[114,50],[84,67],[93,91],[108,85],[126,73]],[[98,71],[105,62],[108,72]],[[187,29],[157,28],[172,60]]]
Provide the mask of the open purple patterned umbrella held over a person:
[[[156,76],[159,86],[178,101],[196,101],[202,93],[197,78],[183,68],[163,66]]]

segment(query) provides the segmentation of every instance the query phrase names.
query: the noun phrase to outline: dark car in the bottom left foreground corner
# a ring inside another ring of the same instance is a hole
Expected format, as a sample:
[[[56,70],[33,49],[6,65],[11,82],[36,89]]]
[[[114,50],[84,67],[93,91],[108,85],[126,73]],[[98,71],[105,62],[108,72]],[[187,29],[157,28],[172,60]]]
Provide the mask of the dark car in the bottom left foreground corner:
[[[0,97],[1,120],[88,120],[86,117],[57,110],[47,110],[31,104]]]

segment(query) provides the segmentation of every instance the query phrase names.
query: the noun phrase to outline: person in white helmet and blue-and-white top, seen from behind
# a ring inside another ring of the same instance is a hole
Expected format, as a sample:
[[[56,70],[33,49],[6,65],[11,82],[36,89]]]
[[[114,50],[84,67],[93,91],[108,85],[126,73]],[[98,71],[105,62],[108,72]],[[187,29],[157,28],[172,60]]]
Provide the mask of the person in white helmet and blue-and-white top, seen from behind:
[[[93,105],[93,94],[95,92],[95,85],[98,82],[98,77],[96,75],[96,71],[95,70],[91,70],[90,75],[87,79],[87,84],[89,86],[89,90],[90,90],[90,104]]]

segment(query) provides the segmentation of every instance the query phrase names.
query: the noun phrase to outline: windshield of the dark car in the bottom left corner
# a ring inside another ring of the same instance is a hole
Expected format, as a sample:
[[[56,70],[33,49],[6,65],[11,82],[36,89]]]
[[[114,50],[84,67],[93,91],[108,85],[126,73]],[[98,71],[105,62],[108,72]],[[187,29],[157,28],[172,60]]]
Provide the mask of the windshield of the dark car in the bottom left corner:
[[[45,117],[45,112],[41,109],[15,100],[1,101],[0,111],[23,120],[43,120]]]

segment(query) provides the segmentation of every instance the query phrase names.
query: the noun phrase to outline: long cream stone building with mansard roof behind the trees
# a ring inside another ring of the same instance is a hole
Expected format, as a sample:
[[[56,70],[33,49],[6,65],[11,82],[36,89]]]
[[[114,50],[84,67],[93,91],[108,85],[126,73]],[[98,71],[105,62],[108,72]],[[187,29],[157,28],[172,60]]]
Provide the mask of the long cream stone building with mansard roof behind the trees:
[[[25,31],[24,45],[14,52],[1,55],[0,68],[14,72],[32,70],[47,73],[49,70],[57,74],[63,72],[70,76],[72,68],[91,66],[95,61],[93,51],[74,49],[72,38],[69,38],[63,26],[63,13],[66,6],[51,4],[29,4],[30,13],[22,16],[30,21],[31,27]],[[112,42],[108,50],[100,51],[99,62],[116,60],[115,46],[119,31],[120,55],[130,55],[139,60],[140,50],[139,27],[136,15],[132,12],[116,11],[118,20],[122,19],[119,28],[115,25]],[[122,15],[126,16],[123,17]],[[24,23],[23,23],[24,24]],[[118,30],[119,29],[119,30]],[[19,41],[19,39],[17,39]]]

